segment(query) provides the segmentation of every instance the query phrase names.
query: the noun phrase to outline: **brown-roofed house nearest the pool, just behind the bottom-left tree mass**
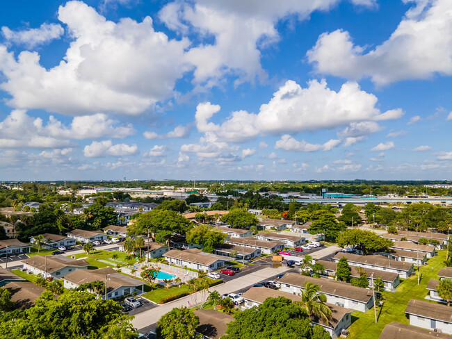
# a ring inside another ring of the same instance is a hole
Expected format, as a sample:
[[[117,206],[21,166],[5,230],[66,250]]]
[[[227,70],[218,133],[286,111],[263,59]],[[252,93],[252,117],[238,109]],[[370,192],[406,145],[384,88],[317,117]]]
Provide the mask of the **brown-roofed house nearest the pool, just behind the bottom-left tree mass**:
[[[143,293],[146,284],[143,280],[116,272],[112,267],[98,268],[97,270],[75,270],[66,274],[63,278],[64,287],[68,289],[78,288],[83,283],[94,281],[106,283],[106,299],[130,295],[133,292]],[[105,299],[104,292],[102,299]]]

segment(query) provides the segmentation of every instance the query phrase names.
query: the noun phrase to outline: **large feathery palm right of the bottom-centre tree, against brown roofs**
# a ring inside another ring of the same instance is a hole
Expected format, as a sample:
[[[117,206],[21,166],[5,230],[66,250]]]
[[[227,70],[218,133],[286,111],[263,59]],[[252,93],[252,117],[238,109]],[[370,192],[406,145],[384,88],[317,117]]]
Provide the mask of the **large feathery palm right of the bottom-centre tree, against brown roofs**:
[[[307,282],[301,292],[301,304],[309,317],[314,320],[323,320],[328,323],[331,319],[331,309],[325,305],[326,296],[321,293],[320,287],[315,283]]]

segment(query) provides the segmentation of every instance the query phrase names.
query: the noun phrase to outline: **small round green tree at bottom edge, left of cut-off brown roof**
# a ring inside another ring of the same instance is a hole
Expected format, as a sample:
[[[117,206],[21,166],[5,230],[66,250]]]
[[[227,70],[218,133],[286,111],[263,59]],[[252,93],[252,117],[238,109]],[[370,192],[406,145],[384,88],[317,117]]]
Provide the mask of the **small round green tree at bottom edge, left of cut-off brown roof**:
[[[189,308],[173,308],[157,322],[157,335],[162,339],[197,338],[200,319]]]

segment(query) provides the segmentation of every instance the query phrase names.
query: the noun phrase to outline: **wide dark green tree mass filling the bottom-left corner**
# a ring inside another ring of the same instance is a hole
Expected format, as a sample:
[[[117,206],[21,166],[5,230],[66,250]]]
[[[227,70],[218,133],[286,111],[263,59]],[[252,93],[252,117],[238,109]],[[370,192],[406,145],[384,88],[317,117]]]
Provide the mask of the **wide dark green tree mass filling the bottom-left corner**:
[[[131,328],[129,315],[120,312],[116,301],[96,299],[88,292],[71,290],[52,299],[41,297],[35,305],[0,323],[3,338],[103,338],[111,326]]]

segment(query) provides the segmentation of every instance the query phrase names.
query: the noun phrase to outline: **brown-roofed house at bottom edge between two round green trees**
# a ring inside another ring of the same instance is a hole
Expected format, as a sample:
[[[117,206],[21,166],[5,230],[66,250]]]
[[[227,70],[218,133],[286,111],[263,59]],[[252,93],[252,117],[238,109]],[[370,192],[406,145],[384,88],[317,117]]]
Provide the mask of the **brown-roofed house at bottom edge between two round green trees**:
[[[194,313],[200,318],[196,332],[202,339],[220,339],[226,334],[227,324],[234,321],[232,315],[212,309],[195,310]]]

